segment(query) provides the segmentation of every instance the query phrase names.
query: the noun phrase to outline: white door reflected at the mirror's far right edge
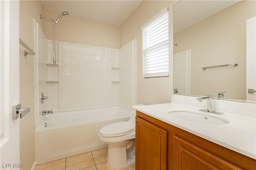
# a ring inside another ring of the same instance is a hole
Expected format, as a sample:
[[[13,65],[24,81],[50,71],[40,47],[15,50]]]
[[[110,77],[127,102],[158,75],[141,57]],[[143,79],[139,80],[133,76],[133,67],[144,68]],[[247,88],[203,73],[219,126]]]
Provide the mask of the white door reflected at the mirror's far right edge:
[[[256,16],[246,20],[246,100],[256,101]],[[248,89],[253,89],[248,93]],[[255,92],[254,92],[255,91]]]

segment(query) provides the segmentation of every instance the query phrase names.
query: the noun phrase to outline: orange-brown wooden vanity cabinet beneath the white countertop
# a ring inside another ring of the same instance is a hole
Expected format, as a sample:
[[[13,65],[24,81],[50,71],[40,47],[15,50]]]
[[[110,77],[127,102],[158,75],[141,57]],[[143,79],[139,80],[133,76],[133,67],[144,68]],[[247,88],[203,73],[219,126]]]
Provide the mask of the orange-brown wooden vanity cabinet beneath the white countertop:
[[[136,170],[255,170],[256,160],[136,111]]]

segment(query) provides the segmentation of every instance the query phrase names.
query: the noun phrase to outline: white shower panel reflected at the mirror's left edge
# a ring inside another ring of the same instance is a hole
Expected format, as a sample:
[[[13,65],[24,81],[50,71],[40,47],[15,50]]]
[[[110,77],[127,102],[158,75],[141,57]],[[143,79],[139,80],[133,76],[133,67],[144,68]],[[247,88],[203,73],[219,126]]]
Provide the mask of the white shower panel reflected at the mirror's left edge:
[[[190,49],[173,55],[173,89],[181,95],[190,95],[190,55]]]

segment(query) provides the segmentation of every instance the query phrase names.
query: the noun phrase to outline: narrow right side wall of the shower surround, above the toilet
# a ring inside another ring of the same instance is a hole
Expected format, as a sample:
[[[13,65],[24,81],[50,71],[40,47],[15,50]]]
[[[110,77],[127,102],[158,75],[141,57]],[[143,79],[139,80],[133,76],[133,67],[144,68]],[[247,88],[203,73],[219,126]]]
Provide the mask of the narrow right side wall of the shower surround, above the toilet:
[[[132,101],[132,59],[133,59],[133,43],[129,42],[124,45],[121,52],[121,106],[131,109]]]

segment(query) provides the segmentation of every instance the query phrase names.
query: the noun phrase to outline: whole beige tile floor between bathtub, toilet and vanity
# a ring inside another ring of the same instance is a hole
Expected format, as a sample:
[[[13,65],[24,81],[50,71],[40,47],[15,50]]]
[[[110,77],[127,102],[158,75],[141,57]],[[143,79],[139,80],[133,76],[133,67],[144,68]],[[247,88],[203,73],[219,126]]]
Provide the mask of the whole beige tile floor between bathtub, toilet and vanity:
[[[107,166],[108,148],[102,148],[68,158],[37,165],[35,170],[110,170]],[[132,164],[121,170],[135,170]]]

